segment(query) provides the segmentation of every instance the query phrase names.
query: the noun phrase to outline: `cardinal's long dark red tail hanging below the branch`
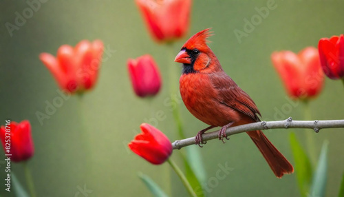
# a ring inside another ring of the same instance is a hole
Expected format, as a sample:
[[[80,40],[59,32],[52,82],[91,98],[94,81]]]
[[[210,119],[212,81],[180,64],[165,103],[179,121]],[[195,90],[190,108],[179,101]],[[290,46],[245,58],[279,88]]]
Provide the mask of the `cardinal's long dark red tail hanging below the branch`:
[[[247,132],[247,134],[255,145],[257,145],[259,151],[263,154],[277,178],[281,178],[283,174],[291,174],[294,172],[294,168],[289,161],[274,145],[272,145],[272,143],[270,143],[263,132],[252,131]]]

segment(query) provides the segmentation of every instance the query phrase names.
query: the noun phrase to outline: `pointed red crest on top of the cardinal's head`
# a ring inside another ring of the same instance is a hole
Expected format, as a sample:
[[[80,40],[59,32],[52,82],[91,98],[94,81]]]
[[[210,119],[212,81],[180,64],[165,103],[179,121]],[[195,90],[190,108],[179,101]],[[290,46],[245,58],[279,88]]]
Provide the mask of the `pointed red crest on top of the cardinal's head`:
[[[194,34],[186,43],[184,43],[183,48],[193,50],[197,48],[198,50],[206,49],[208,46],[206,43],[209,41],[207,40],[208,37],[213,36],[213,32],[211,32],[211,28],[202,30],[197,34]]]

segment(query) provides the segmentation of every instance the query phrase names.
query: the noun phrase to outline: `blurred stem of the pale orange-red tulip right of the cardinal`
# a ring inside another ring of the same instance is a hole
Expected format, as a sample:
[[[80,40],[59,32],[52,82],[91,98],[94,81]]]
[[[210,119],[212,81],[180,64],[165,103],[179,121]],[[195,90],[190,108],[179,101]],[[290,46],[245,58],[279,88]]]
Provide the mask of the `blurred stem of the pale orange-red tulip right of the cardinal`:
[[[311,120],[311,112],[310,112],[310,103],[308,103],[308,101],[304,101],[303,102],[303,106],[304,106],[304,119],[305,121],[310,121]],[[307,143],[307,147],[308,147],[308,153],[310,154],[310,161],[312,163],[312,165],[316,165],[316,145],[314,142],[314,132],[310,132],[310,131],[305,131],[305,139],[306,139],[306,143]]]

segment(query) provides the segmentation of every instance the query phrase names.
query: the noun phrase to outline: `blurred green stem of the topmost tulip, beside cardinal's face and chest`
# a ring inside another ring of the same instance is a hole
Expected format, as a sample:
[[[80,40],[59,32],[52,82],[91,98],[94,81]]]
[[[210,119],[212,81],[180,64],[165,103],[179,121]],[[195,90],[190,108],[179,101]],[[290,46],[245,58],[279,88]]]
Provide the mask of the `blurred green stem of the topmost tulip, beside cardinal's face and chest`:
[[[170,94],[178,94],[178,70],[180,70],[180,66],[176,65],[173,60],[175,59],[175,50],[173,49],[173,43],[168,44],[169,51],[170,51],[170,58],[169,62],[172,62],[172,64],[169,66],[169,85],[170,85]],[[175,96],[172,97],[172,102],[175,103],[175,108],[173,109],[173,118],[175,120],[175,123],[177,125],[178,134],[180,138],[185,138],[183,127],[182,127],[182,119],[180,118],[180,109],[178,101],[176,100]]]

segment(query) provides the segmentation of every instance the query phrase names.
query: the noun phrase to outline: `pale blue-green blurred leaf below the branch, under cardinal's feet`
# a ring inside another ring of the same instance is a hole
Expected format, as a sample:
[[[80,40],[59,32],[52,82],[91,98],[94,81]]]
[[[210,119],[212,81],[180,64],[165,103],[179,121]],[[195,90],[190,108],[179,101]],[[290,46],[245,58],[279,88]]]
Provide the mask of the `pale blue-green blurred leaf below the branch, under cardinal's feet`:
[[[195,176],[200,183],[206,182],[206,170],[204,169],[200,147],[193,145],[185,147],[185,149],[186,159],[188,160],[191,169],[195,173]]]

